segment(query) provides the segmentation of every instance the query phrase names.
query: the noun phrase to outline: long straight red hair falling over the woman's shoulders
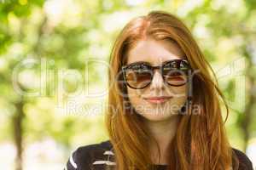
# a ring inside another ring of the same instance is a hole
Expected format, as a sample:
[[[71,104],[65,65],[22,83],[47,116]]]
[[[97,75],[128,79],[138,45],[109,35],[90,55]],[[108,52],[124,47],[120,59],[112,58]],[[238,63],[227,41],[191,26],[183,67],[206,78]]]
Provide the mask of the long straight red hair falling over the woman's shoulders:
[[[169,146],[170,169],[224,170],[230,169],[232,162],[237,169],[238,161],[224,130],[229,109],[214,72],[187,26],[176,16],[163,11],[153,11],[131,20],[113,45],[106,126],[113,144],[115,167],[118,170],[146,170],[148,165],[153,164],[148,153],[148,140],[153,137],[143,126],[141,117],[125,109],[126,89],[119,83],[122,81],[120,71],[121,66],[125,65],[127,51],[146,37],[177,42],[192,69],[199,71],[192,80],[192,106],[188,114],[181,115],[177,133]],[[219,99],[223,99],[226,107],[225,121]],[[200,112],[193,113],[193,105],[199,105]]]

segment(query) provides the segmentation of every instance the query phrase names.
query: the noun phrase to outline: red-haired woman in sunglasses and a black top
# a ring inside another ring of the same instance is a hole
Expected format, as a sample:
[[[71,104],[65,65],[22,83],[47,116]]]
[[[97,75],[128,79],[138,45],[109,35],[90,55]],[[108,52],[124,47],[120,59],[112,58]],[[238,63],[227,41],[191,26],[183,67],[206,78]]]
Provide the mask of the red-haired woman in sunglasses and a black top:
[[[131,20],[111,54],[110,139],[79,147],[67,169],[253,170],[229,144],[219,98],[212,68],[181,20],[162,11]]]

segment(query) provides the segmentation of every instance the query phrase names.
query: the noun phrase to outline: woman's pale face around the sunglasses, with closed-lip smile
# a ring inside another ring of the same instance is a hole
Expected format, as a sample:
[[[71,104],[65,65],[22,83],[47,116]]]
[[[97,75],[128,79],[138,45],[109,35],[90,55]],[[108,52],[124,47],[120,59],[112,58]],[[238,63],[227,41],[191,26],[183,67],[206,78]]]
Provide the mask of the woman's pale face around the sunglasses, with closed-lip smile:
[[[157,66],[172,59],[185,59],[184,56],[185,54],[175,42],[146,39],[137,42],[129,50],[126,65],[145,62],[148,65]],[[166,121],[177,115],[184,105],[187,97],[187,86],[187,83],[182,86],[172,86],[166,83],[160,74],[160,69],[154,69],[151,82],[146,88],[127,87],[127,93],[137,114],[148,121]]]

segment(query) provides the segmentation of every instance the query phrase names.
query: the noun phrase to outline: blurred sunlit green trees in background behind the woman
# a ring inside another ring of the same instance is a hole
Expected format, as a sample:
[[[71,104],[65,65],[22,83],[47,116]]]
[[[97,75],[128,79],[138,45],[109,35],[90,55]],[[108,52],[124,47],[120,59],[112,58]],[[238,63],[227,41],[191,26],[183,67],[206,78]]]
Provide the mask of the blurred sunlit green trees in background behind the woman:
[[[256,167],[255,0],[0,0],[1,170],[63,169],[77,147],[108,139],[113,41],[154,9],[192,31],[230,106],[230,144]]]

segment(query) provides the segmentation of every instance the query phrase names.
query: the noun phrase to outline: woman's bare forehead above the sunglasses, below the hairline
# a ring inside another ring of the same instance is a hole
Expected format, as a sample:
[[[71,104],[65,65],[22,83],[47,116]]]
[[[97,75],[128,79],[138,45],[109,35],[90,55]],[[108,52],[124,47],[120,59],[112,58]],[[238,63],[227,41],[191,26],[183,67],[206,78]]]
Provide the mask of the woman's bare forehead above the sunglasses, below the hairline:
[[[185,59],[185,54],[176,42],[146,39],[138,41],[136,45],[128,51],[127,57],[127,64],[147,61],[152,65],[160,65],[160,63],[166,60]]]

